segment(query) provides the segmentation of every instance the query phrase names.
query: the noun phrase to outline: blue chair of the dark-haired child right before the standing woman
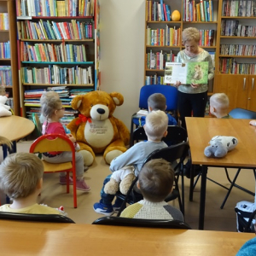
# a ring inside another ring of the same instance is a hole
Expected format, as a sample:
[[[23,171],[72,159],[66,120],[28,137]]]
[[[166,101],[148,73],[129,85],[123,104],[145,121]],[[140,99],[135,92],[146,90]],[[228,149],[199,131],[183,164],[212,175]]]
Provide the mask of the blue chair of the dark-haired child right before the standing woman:
[[[144,85],[140,90],[139,108],[148,110],[148,97],[154,93],[161,93],[166,96],[166,111],[172,111],[174,117],[177,119],[177,88],[163,84]],[[131,134],[133,126],[138,127],[139,119],[136,117],[137,113],[131,116]]]

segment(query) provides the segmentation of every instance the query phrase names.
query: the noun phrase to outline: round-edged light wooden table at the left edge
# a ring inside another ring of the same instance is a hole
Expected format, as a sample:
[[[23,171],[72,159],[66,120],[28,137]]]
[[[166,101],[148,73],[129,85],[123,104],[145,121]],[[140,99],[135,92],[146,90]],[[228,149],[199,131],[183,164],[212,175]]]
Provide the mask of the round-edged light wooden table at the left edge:
[[[34,129],[35,125],[29,119],[17,115],[0,117],[0,136],[7,137],[10,141],[14,142],[14,152],[16,152],[15,142],[32,133]],[[6,156],[5,154],[7,153],[4,153],[3,158]]]

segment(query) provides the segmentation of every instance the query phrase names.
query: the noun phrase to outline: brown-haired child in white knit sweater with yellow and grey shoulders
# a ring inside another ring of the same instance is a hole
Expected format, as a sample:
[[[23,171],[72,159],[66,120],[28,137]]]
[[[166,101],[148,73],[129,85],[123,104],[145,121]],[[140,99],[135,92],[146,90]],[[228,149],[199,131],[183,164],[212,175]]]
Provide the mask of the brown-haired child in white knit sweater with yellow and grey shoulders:
[[[144,199],[127,207],[120,216],[183,221],[183,213],[165,201],[172,192],[173,182],[174,171],[169,162],[163,159],[148,161],[139,173],[137,183]]]

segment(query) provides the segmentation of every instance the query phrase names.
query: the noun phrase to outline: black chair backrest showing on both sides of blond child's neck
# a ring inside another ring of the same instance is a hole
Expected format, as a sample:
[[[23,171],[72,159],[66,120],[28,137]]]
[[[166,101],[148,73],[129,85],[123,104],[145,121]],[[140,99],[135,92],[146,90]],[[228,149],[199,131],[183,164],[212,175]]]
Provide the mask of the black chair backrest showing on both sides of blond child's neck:
[[[182,143],[182,142],[186,142],[187,141],[187,131],[180,126],[168,126],[167,128],[167,136],[162,138],[162,141],[164,141],[165,143],[172,143],[173,144],[177,144],[177,143]],[[133,133],[131,134],[131,144],[130,147],[132,145],[134,145],[135,141],[145,141],[148,140],[148,137],[146,135],[146,132],[143,128],[143,126],[137,127],[136,130],[133,131]]]

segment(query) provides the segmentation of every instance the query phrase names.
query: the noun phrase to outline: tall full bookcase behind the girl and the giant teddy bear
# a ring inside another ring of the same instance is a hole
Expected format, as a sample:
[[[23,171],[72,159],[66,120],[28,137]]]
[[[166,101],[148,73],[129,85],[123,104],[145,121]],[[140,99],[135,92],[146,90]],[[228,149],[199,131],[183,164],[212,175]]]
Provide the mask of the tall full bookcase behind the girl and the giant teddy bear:
[[[71,96],[99,90],[98,0],[17,0],[16,12],[21,114],[39,113],[42,91],[56,90],[73,117]]]

